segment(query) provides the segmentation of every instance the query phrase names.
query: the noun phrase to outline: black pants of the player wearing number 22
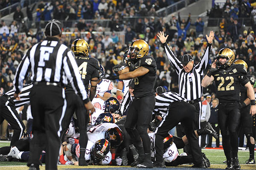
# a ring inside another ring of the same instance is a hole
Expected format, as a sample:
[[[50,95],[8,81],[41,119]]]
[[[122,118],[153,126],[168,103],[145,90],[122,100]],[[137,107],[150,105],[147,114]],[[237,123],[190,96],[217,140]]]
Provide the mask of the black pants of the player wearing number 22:
[[[219,103],[218,105],[218,124],[221,129],[222,145],[227,160],[237,157],[238,153],[238,134],[237,128],[240,121],[240,104]]]

